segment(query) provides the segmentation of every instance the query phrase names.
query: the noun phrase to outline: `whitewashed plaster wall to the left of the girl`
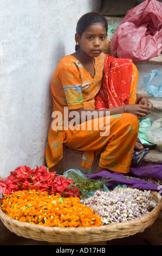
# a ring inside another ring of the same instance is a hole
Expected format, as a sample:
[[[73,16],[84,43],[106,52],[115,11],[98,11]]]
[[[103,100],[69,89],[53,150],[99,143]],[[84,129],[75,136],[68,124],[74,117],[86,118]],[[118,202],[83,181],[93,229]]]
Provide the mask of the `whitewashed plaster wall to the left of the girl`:
[[[0,0],[0,176],[44,162],[51,76],[74,52],[76,22],[99,0]]]

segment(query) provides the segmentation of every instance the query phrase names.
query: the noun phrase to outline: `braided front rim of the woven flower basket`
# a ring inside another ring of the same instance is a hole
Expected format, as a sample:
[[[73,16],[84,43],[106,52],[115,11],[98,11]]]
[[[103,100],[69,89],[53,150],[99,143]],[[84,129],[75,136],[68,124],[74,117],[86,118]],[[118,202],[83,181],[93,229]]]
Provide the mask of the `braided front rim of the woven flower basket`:
[[[109,231],[109,230],[113,230],[113,227],[118,228],[118,229],[128,229],[128,227],[135,227],[137,225],[139,225],[139,222],[142,223],[146,223],[152,220],[152,218],[154,218],[154,221],[156,220],[156,218],[159,216],[160,211],[162,210],[162,198],[158,197],[158,192],[156,191],[151,191],[151,193],[153,193],[154,197],[157,199],[157,205],[155,206],[155,208],[149,212],[148,214],[146,214],[145,216],[142,216],[140,218],[137,218],[135,220],[132,221],[127,221],[127,222],[119,222],[119,223],[112,223],[112,224],[106,224],[106,225],[100,225],[97,227],[79,227],[79,228],[60,228],[60,227],[47,227],[44,225],[38,225],[38,224],[31,224],[31,223],[27,223],[27,222],[21,222],[21,221],[17,221],[14,218],[9,217],[8,215],[4,214],[4,212],[1,209],[1,204],[0,204],[0,219],[2,220],[2,222],[5,225],[5,222],[10,223],[11,225],[13,225],[16,228],[26,228],[26,229],[34,229],[35,231],[46,231],[47,233],[50,232],[55,232],[55,233],[59,233],[62,235],[67,235],[67,231],[68,231],[68,235],[69,234],[74,234],[76,231],[76,234],[79,235],[79,233],[77,233],[77,231],[88,231],[91,230],[90,233],[91,234],[99,234],[100,232],[104,232],[104,231]],[[71,231],[71,232],[70,232]],[[89,233],[89,231],[88,231]]]

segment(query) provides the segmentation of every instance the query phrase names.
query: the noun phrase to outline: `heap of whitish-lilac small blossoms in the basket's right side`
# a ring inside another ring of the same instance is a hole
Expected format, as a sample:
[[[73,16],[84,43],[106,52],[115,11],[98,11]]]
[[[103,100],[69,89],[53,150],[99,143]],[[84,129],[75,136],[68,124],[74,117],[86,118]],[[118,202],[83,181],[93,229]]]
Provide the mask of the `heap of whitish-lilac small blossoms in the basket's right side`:
[[[151,191],[121,187],[108,192],[96,191],[84,204],[100,216],[104,225],[132,221],[145,216],[155,208],[157,202],[153,199]]]

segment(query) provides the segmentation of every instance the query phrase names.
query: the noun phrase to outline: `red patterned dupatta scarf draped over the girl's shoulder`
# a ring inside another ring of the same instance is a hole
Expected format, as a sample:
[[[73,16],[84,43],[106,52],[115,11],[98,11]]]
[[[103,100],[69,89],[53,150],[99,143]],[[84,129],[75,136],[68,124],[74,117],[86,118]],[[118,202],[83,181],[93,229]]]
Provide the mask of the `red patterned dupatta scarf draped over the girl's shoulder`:
[[[105,75],[102,87],[95,96],[96,109],[127,105],[132,82],[132,60],[105,54]]]

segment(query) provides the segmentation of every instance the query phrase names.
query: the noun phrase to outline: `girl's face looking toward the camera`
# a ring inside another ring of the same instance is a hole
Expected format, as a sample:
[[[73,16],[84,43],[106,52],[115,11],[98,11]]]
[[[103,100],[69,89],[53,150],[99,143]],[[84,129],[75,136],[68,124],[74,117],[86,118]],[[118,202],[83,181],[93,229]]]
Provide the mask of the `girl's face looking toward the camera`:
[[[82,36],[76,33],[75,40],[80,45],[80,52],[92,58],[98,57],[106,46],[106,28],[102,23],[94,23],[87,27]]]

